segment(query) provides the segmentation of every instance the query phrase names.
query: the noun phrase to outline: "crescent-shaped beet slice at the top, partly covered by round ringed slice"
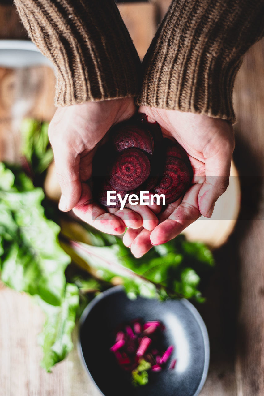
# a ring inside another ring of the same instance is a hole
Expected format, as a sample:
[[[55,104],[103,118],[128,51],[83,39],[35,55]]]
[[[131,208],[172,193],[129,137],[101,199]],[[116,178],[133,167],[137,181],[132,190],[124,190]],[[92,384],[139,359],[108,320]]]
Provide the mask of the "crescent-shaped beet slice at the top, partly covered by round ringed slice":
[[[112,144],[118,152],[126,148],[140,148],[144,152],[152,155],[154,144],[148,131],[139,122],[124,122],[112,129]]]

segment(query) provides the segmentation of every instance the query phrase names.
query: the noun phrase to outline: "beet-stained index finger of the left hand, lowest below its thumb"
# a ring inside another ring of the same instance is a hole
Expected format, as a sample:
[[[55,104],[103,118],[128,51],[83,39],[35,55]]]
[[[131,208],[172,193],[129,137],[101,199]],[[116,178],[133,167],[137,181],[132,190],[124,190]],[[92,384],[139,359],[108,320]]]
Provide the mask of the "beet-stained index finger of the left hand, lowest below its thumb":
[[[125,232],[123,221],[106,212],[101,206],[92,203],[89,186],[82,183],[82,195],[78,204],[72,209],[74,214],[81,220],[107,234],[119,235]]]

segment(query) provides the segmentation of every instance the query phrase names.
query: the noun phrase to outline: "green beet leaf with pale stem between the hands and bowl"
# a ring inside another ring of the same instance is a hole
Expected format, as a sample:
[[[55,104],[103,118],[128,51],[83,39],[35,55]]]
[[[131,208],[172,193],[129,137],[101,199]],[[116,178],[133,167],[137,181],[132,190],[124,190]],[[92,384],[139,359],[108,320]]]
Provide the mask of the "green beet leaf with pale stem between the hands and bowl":
[[[74,261],[77,254],[86,263],[86,269],[98,278],[114,284],[118,280],[132,299],[142,295],[160,299],[186,297],[202,302],[199,271],[190,267],[190,259],[205,272],[205,268],[208,271],[213,266],[213,256],[204,244],[193,246],[186,242],[180,235],[154,247],[140,259],[135,259],[119,238],[115,238],[112,246],[104,247],[72,241],[67,251]]]

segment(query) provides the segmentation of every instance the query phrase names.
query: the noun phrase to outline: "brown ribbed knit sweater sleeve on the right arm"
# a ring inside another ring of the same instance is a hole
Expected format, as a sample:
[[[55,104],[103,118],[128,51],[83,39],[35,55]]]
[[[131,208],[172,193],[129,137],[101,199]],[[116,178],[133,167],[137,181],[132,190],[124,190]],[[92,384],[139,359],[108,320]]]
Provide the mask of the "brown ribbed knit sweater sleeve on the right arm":
[[[173,0],[144,58],[137,104],[235,121],[241,57],[264,34],[264,0]]]

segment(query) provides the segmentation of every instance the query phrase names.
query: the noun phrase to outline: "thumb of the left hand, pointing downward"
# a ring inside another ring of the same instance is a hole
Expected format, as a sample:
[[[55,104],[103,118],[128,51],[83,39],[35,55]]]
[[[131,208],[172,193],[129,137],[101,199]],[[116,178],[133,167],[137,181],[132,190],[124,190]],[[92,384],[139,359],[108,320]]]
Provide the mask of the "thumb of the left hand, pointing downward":
[[[53,145],[57,179],[61,187],[59,209],[69,211],[77,204],[82,193],[80,157],[68,147]]]

